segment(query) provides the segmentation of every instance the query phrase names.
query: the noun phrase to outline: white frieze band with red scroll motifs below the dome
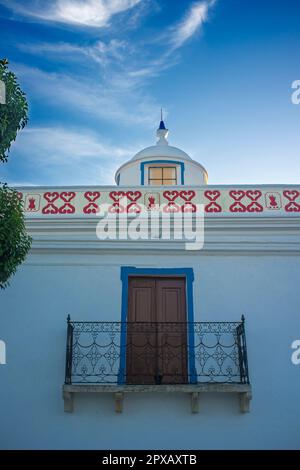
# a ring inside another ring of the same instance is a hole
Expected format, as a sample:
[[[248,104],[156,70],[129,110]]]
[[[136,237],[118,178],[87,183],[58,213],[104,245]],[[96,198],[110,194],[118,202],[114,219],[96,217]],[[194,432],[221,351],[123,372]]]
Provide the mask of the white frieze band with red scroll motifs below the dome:
[[[182,187],[181,187],[182,188]],[[20,191],[27,217],[97,216],[105,206],[110,213],[131,216],[146,211],[165,213],[197,212],[203,205],[206,215],[231,216],[300,214],[300,186],[205,188],[34,188]]]

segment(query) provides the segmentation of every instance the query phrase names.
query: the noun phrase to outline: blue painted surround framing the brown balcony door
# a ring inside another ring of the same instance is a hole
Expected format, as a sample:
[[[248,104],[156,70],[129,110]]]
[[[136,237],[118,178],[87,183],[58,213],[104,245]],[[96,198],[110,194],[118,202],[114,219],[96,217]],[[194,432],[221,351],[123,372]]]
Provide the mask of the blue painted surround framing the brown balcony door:
[[[186,302],[187,302],[187,322],[188,322],[188,371],[189,383],[197,382],[194,354],[194,299],[193,282],[194,271],[192,268],[136,268],[134,266],[121,267],[122,281],[122,307],[121,307],[121,354],[120,371],[118,383],[125,383],[126,370],[126,321],[128,307],[128,279],[130,276],[180,276],[186,279]]]

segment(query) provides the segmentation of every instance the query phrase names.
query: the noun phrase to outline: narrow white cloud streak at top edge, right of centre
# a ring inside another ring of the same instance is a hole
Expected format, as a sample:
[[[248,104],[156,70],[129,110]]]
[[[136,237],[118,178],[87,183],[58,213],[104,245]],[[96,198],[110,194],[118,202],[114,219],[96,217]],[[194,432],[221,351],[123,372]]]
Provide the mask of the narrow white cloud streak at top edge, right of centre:
[[[207,21],[208,12],[216,0],[194,3],[186,17],[171,30],[170,43],[173,49],[181,47]]]

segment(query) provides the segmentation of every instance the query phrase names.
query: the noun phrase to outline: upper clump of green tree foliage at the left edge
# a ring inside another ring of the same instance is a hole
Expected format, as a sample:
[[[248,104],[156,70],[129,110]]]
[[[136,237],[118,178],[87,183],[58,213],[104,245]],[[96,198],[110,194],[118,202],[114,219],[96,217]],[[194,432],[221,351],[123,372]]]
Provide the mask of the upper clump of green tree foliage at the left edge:
[[[0,162],[6,162],[11,143],[28,122],[28,104],[17,77],[8,70],[6,59],[0,60],[0,80],[6,90],[6,102],[0,104]]]

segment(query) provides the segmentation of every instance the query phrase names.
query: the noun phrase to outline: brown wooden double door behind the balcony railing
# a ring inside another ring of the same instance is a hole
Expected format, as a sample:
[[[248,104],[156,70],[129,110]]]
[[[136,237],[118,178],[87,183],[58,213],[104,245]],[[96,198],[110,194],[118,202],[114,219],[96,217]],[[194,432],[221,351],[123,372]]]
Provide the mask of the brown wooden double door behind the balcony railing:
[[[128,384],[187,383],[184,278],[130,277]]]

